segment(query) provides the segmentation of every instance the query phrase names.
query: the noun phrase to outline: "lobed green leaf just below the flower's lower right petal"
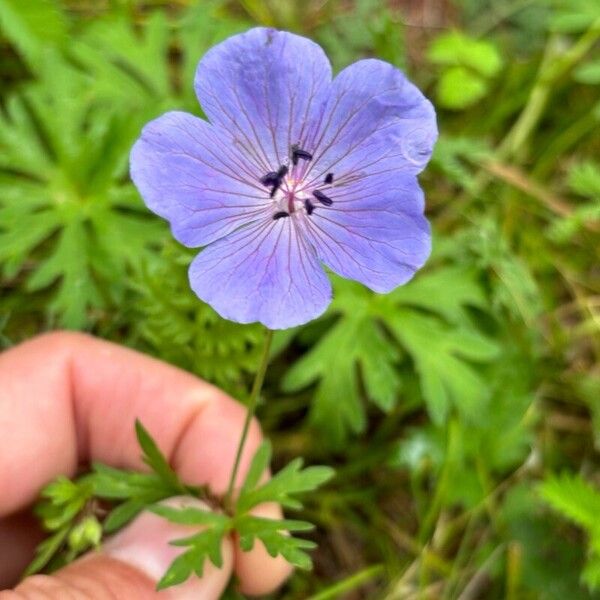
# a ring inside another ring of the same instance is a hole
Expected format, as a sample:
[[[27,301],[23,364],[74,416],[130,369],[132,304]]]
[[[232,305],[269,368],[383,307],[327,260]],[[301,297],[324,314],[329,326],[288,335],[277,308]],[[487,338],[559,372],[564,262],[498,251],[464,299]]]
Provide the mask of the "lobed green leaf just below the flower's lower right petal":
[[[471,363],[487,363],[497,345],[473,326],[468,307],[486,299],[469,269],[444,267],[421,274],[382,296],[335,279],[330,314],[338,318],[286,374],[284,389],[318,381],[311,407],[314,424],[340,445],[365,427],[362,391],[383,410],[398,401],[398,364],[413,361],[429,414],[441,423],[452,407],[467,419],[485,412],[489,391]]]

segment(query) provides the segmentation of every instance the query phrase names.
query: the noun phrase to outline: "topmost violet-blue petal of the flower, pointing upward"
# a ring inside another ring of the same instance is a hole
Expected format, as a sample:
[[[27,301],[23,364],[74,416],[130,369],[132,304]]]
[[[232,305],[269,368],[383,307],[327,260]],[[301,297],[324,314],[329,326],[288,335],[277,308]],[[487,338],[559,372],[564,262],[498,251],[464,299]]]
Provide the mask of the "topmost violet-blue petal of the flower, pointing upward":
[[[277,170],[291,144],[302,143],[313,106],[322,104],[331,65],[314,42],[255,28],[206,53],[195,87],[211,123],[229,132],[261,171]]]

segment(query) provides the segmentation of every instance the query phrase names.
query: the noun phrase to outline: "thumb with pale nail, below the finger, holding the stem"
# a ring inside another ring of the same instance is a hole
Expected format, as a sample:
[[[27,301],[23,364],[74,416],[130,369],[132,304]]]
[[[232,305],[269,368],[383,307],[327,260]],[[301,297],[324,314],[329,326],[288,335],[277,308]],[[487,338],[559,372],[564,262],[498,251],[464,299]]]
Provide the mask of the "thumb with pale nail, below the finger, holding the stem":
[[[202,579],[192,577],[182,585],[156,591],[157,581],[182,552],[169,542],[195,531],[197,528],[143,513],[107,540],[100,552],[90,553],[52,575],[29,577],[14,591],[0,592],[0,600],[218,600],[233,568],[229,539],[223,541],[221,569],[207,561]]]

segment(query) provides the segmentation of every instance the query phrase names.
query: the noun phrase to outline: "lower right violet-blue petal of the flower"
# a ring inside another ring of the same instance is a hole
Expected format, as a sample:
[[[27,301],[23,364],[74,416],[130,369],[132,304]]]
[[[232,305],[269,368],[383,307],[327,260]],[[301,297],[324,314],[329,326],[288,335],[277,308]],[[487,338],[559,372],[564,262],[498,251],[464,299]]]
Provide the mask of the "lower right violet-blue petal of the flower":
[[[423,266],[431,235],[414,176],[372,174],[328,193],[332,206],[317,207],[305,223],[307,238],[332,271],[387,293]]]

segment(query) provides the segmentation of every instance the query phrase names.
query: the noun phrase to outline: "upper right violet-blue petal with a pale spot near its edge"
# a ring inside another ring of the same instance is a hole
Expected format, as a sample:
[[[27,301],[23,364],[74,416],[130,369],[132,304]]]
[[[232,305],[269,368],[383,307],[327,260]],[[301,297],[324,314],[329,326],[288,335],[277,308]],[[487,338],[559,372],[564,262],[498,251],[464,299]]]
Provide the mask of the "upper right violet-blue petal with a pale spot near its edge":
[[[434,108],[392,65],[358,61],[334,79],[306,149],[314,160],[305,180],[328,172],[338,181],[377,165],[413,174],[423,170],[437,139]]]

